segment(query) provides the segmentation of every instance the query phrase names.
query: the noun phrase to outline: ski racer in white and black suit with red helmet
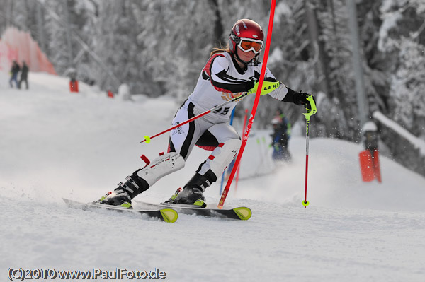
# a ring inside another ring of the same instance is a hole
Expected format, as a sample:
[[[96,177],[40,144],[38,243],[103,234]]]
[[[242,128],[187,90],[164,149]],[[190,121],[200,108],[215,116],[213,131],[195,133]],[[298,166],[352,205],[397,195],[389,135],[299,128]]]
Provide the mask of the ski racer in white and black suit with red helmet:
[[[263,38],[263,30],[254,20],[238,20],[229,35],[229,46],[226,49],[213,49],[200,73],[196,88],[176,112],[173,125],[185,122],[254,88],[261,73],[261,62],[258,59],[263,48]],[[276,81],[268,69],[265,80]],[[295,92],[282,83],[268,95],[283,102],[311,108],[307,100],[310,94]],[[211,155],[200,164],[183,189],[179,189],[168,201],[206,206],[203,192],[232,162],[242,143],[237,131],[229,125],[230,114],[237,102],[239,100],[229,102],[225,107],[171,131],[168,153],[159,156],[145,168],[136,170],[114,192],[106,194],[99,202],[130,208],[131,199],[147,190],[161,177],[183,168],[193,147],[200,146],[212,150]]]

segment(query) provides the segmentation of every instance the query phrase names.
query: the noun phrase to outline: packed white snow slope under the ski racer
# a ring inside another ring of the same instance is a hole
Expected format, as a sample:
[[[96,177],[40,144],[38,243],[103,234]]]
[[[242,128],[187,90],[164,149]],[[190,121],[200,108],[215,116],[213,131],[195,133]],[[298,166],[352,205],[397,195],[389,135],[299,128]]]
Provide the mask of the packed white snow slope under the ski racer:
[[[310,139],[304,208],[303,125],[290,139],[293,162],[279,168],[270,132],[251,131],[225,205],[249,206],[249,221],[180,215],[171,224],[67,208],[62,197],[98,199],[144,166],[140,155],[166,151],[166,134],[139,142],[168,128],[181,101],[111,99],[84,84],[69,93],[67,78],[48,74],[29,80],[30,90],[11,89],[0,73],[1,281],[9,268],[157,268],[166,281],[424,281],[424,177],[381,156],[382,183],[364,183],[361,144]],[[137,199],[168,199],[208,154],[195,148],[183,170]],[[219,191],[220,179],[205,192],[210,206]]]

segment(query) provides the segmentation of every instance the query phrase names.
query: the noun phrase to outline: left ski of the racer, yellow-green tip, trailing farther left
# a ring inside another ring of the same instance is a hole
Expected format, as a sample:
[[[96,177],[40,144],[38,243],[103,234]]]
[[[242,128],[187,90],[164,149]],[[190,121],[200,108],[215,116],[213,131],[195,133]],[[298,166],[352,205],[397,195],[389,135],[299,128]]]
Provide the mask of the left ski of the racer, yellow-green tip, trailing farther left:
[[[92,211],[92,210],[103,208],[110,211],[139,213],[142,216],[147,216],[149,218],[158,218],[168,223],[176,222],[177,218],[179,217],[179,214],[176,211],[174,211],[174,209],[166,208],[166,207],[162,207],[155,210],[140,210],[140,209],[132,209],[132,208],[123,208],[121,206],[111,206],[106,204],[94,204],[94,203],[84,204],[79,201],[74,201],[74,200],[65,199],[65,198],[62,198],[62,199],[64,200],[65,204],[67,204],[67,206],[69,206],[70,208],[78,208],[84,211]]]

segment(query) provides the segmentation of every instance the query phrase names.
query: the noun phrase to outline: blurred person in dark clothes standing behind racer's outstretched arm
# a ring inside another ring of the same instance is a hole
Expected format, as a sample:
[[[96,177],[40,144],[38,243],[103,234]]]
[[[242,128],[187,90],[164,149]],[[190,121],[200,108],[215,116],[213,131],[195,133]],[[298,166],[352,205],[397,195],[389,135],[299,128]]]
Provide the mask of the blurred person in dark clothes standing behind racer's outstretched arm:
[[[282,110],[276,110],[276,116],[271,120],[273,134],[271,134],[272,158],[275,161],[288,161],[291,156],[288,150],[290,139],[290,123]]]

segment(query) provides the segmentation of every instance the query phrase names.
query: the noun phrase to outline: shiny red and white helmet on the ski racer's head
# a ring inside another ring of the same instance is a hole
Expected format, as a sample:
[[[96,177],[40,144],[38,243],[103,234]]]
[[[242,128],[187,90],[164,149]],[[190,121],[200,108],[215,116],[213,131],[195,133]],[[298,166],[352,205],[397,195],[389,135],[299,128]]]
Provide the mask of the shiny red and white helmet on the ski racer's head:
[[[258,23],[254,22],[254,20],[249,20],[247,18],[243,18],[234,23],[229,35],[229,49],[232,54],[236,53],[237,45],[239,45],[242,38],[263,42],[263,29]]]

